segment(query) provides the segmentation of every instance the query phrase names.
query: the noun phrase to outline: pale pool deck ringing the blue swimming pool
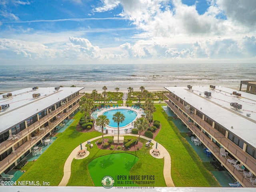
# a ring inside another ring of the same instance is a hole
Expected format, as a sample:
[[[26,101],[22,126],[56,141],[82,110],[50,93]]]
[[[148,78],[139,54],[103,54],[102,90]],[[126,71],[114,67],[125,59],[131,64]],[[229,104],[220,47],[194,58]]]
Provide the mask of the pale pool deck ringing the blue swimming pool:
[[[103,114],[104,112],[106,112],[106,111],[114,110],[114,109],[128,109],[128,110],[132,110],[132,111],[136,112],[136,113],[137,113],[137,116],[136,116],[136,118],[135,118],[133,121],[135,121],[137,118],[140,118],[142,115],[144,115],[144,110],[142,110],[141,108],[140,108],[140,109],[134,109],[134,108],[127,107],[127,106],[118,106],[118,107],[115,107],[115,108],[114,108],[114,107],[110,107],[110,108],[108,108],[108,109],[104,108],[104,109],[102,109],[101,111],[98,111],[98,112],[97,112],[97,116],[102,115],[102,114]],[[95,118],[95,117],[92,115],[92,118]],[[94,124],[94,128],[95,128],[95,130],[97,130],[98,132],[101,132],[101,127],[96,126],[96,125]],[[120,134],[130,133],[133,128],[134,128],[134,127],[132,126],[132,122],[130,122],[128,125],[126,125],[126,126],[124,126],[124,127],[120,127],[120,128],[119,128],[119,132],[120,132]],[[108,130],[108,133],[107,133],[107,134],[111,134],[111,135],[117,134],[117,127],[114,128],[114,127],[110,127],[110,126],[107,125],[107,126],[104,128],[104,131],[106,131],[106,130]],[[104,132],[104,133],[106,133],[106,132]]]

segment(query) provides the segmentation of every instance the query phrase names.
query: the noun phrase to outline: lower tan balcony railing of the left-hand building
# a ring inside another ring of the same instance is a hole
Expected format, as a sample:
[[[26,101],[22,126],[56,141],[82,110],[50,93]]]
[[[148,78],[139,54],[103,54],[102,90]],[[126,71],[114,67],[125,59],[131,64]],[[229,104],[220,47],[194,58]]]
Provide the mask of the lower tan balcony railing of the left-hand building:
[[[4,160],[2,160],[0,162],[0,173],[3,172],[6,168],[8,168],[8,166],[10,164],[13,164],[17,158],[19,158],[20,156],[22,156],[22,154],[24,154],[24,152],[26,152],[27,150],[29,150],[32,146],[34,146],[38,141],[40,141],[44,136],[46,136],[46,134],[48,134],[51,130],[53,130],[58,124],[60,124],[60,122],[62,122],[62,120],[64,120],[66,117],[68,117],[74,110],[76,110],[79,107],[79,103],[75,104],[74,106],[72,106],[72,108],[70,108],[69,110],[67,110],[66,113],[64,113],[64,115],[61,118],[58,118],[57,120],[52,122],[52,127],[50,127],[49,125],[45,127],[45,132],[41,132],[40,134],[37,135],[37,138],[33,139],[33,140],[29,140],[26,141],[24,144],[22,144],[20,147],[15,148],[15,151],[12,152],[10,155],[8,155]],[[55,110],[54,110],[55,111]],[[53,111],[53,112],[54,112]],[[56,113],[55,113],[56,114]],[[58,114],[58,113],[57,113]],[[26,134],[26,136],[28,136],[28,133]],[[18,142],[20,140],[15,140],[14,142],[12,142],[12,144]]]

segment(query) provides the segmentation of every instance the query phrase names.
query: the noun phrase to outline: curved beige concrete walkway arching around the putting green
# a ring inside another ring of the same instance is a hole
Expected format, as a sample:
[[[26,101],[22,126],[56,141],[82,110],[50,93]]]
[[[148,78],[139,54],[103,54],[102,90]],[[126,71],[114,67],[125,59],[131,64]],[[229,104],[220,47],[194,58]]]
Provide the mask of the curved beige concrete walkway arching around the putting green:
[[[134,134],[122,134],[122,135],[119,135],[119,136],[128,136],[128,135],[129,136],[136,136],[136,137],[139,136],[139,135],[134,135]],[[108,134],[104,135],[104,137],[107,137],[107,136],[113,136],[113,135],[108,135]],[[144,138],[146,140],[149,139],[148,137],[145,137],[145,136],[142,136],[142,135],[140,137]],[[102,138],[102,136],[91,138],[90,141],[93,141],[93,140],[96,140],[96,139],[100,139],[100,138]],[[153,144],[152,148],[154,148],[154,145],[156,145],[156,141],[151,139],[151,142]],[[87,144],[87,141],[83,142],[82,146],[84,146],[86,144]],[[171,176],[171,165],[172,165],[172,162],[171,162],[170,154],[168,153],[166,148],[164,148],[164,146],[162,146],[160,143],[157,144],[157,148],[160,150],[161,156],[153,156],[153,157],[155,157],[155,158],[164,158],[163,174],[164,174],[164,180],[165,180],[166,186],[167,187],[175,187],[174,183],[172,181],[172,176]],[[67,160],[66,160],[66,162],[64,164],[64,176],[62,177],[62,180],[61,180],[61,182],[60,182],[60,184],[58,186],[66,186],[68,184],[68,181],[69,181],[70,175],[71,175],[71,164],[72,164],[73,159],[77,156],[77,152],[79,150],[80,150],[80,145],[77,146],[70,153],[70,155],[68,156],[68,158],[67,158]],[[151,150],[150,150],[150,154],[152,155]]]

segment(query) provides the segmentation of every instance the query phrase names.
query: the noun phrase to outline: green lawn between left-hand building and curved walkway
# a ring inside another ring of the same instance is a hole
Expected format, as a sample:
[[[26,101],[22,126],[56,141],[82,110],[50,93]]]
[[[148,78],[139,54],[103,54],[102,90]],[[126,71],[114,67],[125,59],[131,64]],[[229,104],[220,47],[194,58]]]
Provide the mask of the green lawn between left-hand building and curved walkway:
[[[63,168],[70,153],[80,143],[100,136],[99,132],[80,133],[76,131],[76,124],[80,117],[78,112],[75,121],[63,133],[57,135],[55,142],[38,158],[36,162],[29,162],[23,170],[26,172],[18,181],[39,181],[50,182],[51,186],[58,186],[63,177]],[[30,165],[32,164],[32,165]]]

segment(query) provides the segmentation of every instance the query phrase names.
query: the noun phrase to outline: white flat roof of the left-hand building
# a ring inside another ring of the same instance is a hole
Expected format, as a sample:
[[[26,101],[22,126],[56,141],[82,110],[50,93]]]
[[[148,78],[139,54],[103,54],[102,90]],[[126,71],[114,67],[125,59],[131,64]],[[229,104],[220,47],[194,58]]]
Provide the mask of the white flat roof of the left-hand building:
[[[9,104],[8,110],[0,112],[0,133],[12,128],[12,126],[27,120],[38,112],[52,106],[56,102],[64,100],[68,96],[82,90],[84,87],[60,87],[58,91],[54,87],[45,87],[32,90],[25,88],[10,92],[12,97],[3,98],[0,95],[0,106]],[[40,93],[40,97],[33,98],[32,94]]]

